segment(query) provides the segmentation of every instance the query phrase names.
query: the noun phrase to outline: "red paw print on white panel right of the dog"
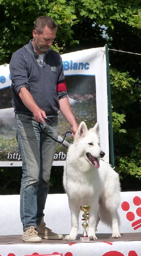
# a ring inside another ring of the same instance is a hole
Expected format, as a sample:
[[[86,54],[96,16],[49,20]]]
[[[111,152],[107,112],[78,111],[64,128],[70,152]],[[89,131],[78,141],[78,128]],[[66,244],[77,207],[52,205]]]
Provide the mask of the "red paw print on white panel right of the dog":
[[[133,198],[133,203],[136,206],[140,206],[141,205],[141,198],[139,196],[135,196]],[[128,202],[124,201],[121,204],[121,208],[122,208],[123,211],[128,211],[127,214],[126,214],[127,220],[133,221],[135,219],[135,214],[133,212],[129,211],[130,205],[129,205]],[[141,217],[141,207],[138,207],[136,209],[136,214],[137,214],[137,216]],[[140,228],[141,227],[141,219],[138,219],[138,220],[132,222],[132,227],[134,227],[134,230]]]

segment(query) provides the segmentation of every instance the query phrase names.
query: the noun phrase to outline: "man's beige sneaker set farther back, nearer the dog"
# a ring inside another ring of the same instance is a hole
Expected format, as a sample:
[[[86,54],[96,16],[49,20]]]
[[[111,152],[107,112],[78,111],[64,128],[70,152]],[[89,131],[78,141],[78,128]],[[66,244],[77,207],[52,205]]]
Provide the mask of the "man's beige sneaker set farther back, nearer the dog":
[[[41,223],[37,225],[37,232],[38,232],[38,235],[44,239],[60,240],[63,238],[63,235],[56,234],[52,232],[51,229],[46,227],[46,223],[44,222],[44,217],[42,217]]]

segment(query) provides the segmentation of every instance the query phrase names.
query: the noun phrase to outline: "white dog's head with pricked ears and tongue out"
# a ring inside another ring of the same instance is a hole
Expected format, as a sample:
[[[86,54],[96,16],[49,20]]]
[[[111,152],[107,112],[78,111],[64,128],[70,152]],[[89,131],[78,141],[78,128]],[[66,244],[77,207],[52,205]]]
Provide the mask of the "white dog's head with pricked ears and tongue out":
[[[80,157],[83,155],[90,164],[99,168],[99,158],[105,153],[100,148],[99,124],[87,129],[85,122],[81,122],[75,134],[74,144],[80,149]]]

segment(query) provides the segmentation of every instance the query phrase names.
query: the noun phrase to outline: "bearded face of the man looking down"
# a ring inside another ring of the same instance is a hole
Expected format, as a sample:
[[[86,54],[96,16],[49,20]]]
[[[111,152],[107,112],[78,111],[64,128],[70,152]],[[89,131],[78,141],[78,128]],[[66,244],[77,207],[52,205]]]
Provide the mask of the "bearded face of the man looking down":
[[[56,32],[56,29],[51,30],[48,27],[43,29],[42,34],[39,34],[36,30],[33,31],[32,43],[37,54],[43,54],[51,47],[56,38]]]

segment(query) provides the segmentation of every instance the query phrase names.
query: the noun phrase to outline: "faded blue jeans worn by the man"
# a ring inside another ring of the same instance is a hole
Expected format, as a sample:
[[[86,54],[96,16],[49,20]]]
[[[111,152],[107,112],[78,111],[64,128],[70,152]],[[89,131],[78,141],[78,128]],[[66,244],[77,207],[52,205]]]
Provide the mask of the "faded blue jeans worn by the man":
[[[45,133],[55,139],[58,138],[57,118],[52,119],[52,125],[40,124]],[[36,228],[44,216],[56,142],[41,131],[39,123],[32,116],[15,114],[15,129],[19,152],[23,160],[20,216],[25,231],[29,226]]]

